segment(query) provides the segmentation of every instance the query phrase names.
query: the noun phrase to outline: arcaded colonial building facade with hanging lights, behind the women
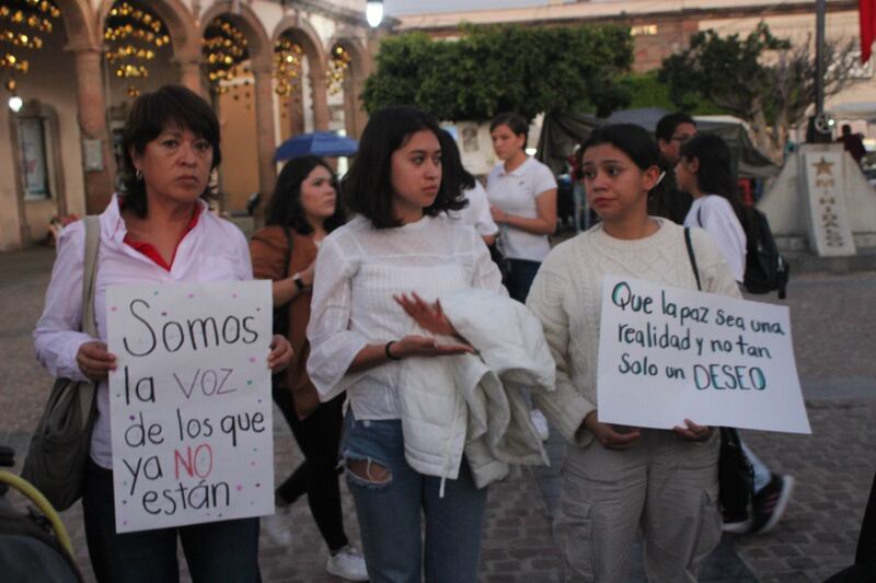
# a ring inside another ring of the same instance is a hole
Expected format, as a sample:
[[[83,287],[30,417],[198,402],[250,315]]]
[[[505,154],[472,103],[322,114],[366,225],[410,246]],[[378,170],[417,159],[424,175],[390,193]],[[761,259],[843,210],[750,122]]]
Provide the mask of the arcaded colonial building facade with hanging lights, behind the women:
[[[130,103],[165,83],[216,107],[220,202],[243,210],[272,191],[283,140],[358,137],[372,43],[365,0],[0,1],[0,250],[104,208]]]

